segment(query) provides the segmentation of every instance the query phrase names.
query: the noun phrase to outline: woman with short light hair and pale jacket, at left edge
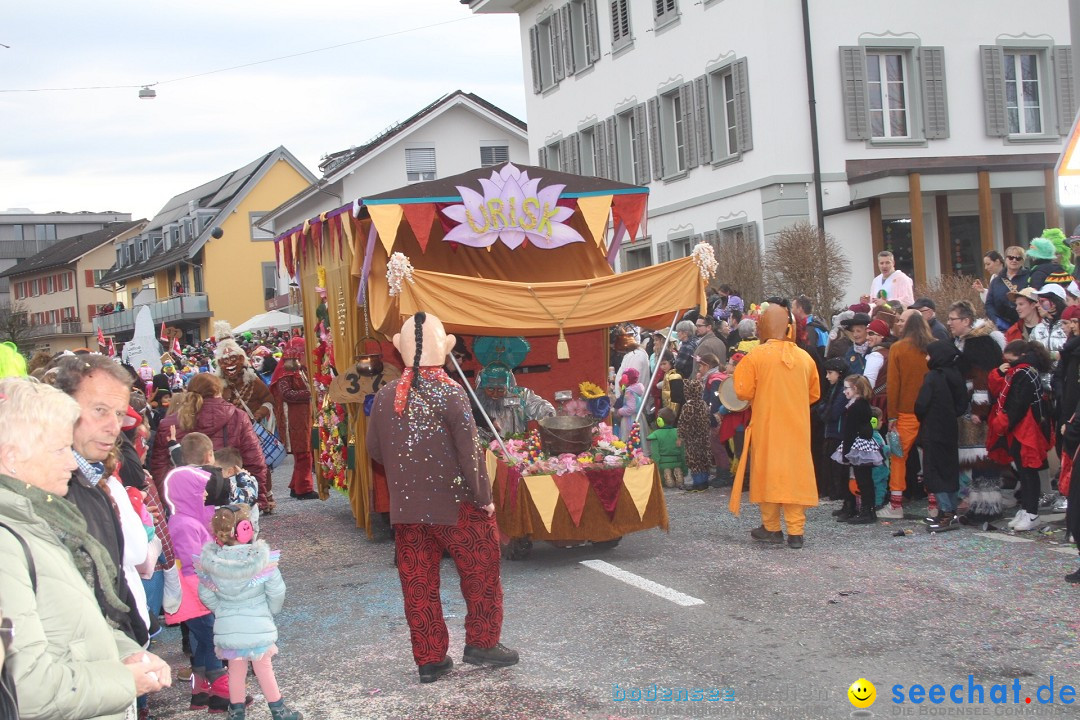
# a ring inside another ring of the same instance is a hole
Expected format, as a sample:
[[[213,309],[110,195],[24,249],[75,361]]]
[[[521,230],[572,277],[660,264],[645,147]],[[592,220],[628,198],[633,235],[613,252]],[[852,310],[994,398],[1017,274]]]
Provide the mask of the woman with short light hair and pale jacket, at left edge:
[[[172,683],[168,665],[102,614],[117,568],[65,500],[78,403],[29,379],[0,380],[0,607],[15,633],[6,663],[19,717],[125,718]]]

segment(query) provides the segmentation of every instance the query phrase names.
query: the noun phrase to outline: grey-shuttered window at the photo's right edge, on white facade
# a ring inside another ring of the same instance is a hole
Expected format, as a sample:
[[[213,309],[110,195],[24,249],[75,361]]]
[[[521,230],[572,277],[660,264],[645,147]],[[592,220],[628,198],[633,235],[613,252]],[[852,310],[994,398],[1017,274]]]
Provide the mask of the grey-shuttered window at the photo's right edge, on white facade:
[[[1050,140],[1072,128],[1072,51],[1029,42],[983,45],[986,134],[1007,141]]]

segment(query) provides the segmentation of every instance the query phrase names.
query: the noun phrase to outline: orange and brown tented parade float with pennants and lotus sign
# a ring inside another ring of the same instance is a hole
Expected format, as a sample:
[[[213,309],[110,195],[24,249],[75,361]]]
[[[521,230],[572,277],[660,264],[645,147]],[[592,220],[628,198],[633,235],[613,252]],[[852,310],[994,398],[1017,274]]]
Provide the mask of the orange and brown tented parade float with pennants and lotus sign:
[[[588,409],[607,399],[608,328],[671,327],[704,304],[715,269],[703,247],[613,272],[622,242],[644,231],[647,198],[642,187],[504,163],[357,200],[279,235],[313,329],[309,359],[325,370],[315,390],[332,452],[316,463],[320,491],[346,490],[368,530],[370,513],[387,510],[384,479],[363,448],[364,399],[401,368],[389,338],[424,311],[467,347],[477,337],[527,339],[527,356],[510,368],[515,384],[549,399],[558,393],[559,417],[589,427],[588,447],[573,453],[546,452],[537,427],[489,451],[499,528],[516,555],[529,539],[610,542],[666,529],[656,468],[610,435],[606,411],[602,420]],[[361,367],[373,356],[378,373]],[[483,367],[474,359],[461,369],[468,378]]]

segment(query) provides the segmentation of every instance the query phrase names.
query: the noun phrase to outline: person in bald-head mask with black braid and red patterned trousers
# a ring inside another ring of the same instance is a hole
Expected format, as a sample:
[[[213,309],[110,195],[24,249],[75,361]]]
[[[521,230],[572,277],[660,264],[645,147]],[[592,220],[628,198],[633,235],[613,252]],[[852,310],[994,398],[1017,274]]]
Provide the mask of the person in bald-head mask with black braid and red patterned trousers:
[[[376,393],[366,439],[368,453],[387,473],[397,573],[420,681],[437,680],[454,667],[446,655],[442,602],[428,571],[437,567],[444,548],[461,576],[471,619],[465,662],[513,665],[517,653],[499,644],[502,585],[491,486],[469,398],[443,369],[455,338],[437,317],[417,313],[393,342],[405,371]]]

